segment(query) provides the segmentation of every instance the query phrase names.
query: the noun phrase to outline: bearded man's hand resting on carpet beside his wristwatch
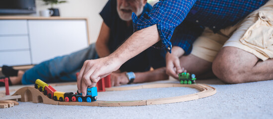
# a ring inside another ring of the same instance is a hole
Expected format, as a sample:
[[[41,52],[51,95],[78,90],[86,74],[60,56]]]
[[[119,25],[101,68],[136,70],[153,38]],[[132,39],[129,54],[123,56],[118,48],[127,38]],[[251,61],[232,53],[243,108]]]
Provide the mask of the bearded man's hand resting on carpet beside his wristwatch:
[[[111,73],[111,84],[112,86],[120,86],[121,84],[127,84],[129,79],[127,78],[126,72],[122,73]]]

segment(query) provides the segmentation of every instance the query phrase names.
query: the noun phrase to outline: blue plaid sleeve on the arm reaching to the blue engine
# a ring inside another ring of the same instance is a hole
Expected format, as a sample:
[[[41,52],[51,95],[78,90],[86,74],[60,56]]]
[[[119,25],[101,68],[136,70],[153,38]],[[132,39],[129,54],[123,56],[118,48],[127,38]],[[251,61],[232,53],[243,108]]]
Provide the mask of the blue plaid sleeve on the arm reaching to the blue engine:
[[[166,48],[171,53],[171,38],[175,28],[182,23],[196,0],[160,0],[148,13],[140,18],[132,14],[134,32],[157,25],[162,42],[154,45],[156,48]]]

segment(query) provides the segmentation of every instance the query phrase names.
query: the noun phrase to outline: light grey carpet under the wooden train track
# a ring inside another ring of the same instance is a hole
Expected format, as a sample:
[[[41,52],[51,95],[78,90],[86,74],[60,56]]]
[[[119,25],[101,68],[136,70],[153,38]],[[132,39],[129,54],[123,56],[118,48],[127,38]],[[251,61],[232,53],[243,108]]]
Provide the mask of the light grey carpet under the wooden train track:
[[[158,81],[169,83],[178,81]],[[273,119],[273,80],[223,84],[218,79],[197,80],[217,89],[213,96],[174,104],[135,107],[58,106],[19,102],[0,109],[1,119]],[[141,85],[141,84],[132,84]],[[126,85],[128,86],[128,85]],[[10,89],[20,86],[12,86]],[[57,91],[76,92],[76,85],[56,86]],[[0,87],[0,91],[4,90]],[[185,87],[99,92],[98,100],[128,101],[181,96],[199,92]],[[11,92],[14,93],[14,92]]]

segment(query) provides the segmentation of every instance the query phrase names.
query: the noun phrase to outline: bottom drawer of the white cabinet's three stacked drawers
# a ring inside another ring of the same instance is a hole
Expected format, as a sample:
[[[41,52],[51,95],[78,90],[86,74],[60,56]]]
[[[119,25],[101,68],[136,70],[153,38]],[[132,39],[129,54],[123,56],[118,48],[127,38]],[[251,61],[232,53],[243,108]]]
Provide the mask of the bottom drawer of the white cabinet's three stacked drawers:
[[[28,65],[31,64],[29,51],[0,52],[0,65]]]

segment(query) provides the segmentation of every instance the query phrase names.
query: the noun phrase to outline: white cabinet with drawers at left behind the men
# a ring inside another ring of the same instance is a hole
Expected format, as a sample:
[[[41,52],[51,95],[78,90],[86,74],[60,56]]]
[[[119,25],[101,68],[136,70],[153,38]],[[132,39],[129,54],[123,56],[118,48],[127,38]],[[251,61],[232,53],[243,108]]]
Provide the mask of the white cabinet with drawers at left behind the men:
[[[0,17],[0,67],[38,64],[68,55],[89,45],[85,18]]]

